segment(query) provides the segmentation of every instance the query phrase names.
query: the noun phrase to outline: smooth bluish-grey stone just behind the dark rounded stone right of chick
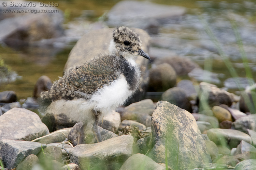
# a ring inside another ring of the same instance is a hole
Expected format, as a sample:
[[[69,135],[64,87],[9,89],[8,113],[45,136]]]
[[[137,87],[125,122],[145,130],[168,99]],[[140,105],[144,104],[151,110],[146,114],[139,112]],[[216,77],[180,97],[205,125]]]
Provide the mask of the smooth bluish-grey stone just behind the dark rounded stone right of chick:
[[[189,99],[196,99],[197,91],[190,80],[181,80],[177,83],[177,87],[180,87]],[[212,115],[210,115],[212,116]]]

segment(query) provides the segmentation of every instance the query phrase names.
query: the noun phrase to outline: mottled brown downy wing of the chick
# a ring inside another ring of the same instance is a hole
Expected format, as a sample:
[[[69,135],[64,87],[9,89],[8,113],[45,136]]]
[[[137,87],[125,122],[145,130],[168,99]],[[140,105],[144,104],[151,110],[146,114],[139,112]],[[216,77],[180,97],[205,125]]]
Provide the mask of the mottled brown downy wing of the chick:
[[[118,78],[120,70],[113,57],[108,56],[86,62],[67,71],[54,83],[51,90],[58,94],[56,99],[88,98],[104,85],[109,85]]]

